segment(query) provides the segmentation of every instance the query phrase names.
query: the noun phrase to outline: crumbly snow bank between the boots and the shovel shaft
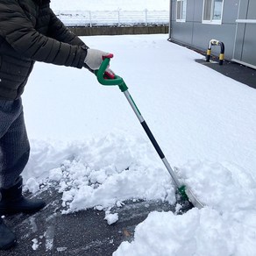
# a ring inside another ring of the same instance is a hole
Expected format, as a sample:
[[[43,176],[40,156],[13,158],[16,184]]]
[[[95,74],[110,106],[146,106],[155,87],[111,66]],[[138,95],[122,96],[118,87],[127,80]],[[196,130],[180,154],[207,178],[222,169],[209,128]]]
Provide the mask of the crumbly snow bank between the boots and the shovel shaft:
[[[26,187],[33,192],[39,189],[39,183],[47,187],[57,182],[59,192],[63,193],[62,206],[67,208],[63,213],[92,207],[107,209],[132,198],[175,202],[171,178],[166,170],[155,167],[154,161],[159,160],[146,141],[124,138],[120,133],[83,144],[62,145],[62,151],[60,146],[56,148],[54,152],[53,146],[48,145],[41,152],[32,152],[24,177]],[[42,161],[47,155],[51,155],[50,163]],[[51,160],[60,167],[51,168]],[[29,178],[35,177],[34,169],[38,170],[38,181]],[[43,171],[46,169],[48,172]]]

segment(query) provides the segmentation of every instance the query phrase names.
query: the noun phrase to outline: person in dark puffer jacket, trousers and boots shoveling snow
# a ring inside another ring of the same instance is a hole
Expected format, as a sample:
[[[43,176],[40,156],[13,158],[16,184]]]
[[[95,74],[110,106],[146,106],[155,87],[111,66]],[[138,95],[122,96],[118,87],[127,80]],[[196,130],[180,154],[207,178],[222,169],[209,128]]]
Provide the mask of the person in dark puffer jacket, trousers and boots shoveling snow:
[[[35,61],[94,72],[113,54],[90,49],[63,25],[49,0],[0,0],[0,249],[17,238],[3,215],[33,213],[45,207],[22,194],[22,172],[30,145],[21,95]],[[110,68],[105,75],[114,77]],[[51,93],[51,91],[49,91]]]

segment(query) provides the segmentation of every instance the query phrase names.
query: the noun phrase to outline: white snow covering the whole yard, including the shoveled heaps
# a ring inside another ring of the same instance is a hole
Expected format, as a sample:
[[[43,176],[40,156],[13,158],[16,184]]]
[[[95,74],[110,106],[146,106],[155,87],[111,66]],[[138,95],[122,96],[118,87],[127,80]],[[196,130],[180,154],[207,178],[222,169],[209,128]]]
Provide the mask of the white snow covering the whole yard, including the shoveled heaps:
[[[255,255],[256,90],[196,63],[203,56],[167,34],[82,39],[115,54],[111,68],[181,182],[206,204],[182,216],[150,213],[114,255]],[[23,103],[26,188],[54,184],[64,214],[93,207],[112,224],[110,208],[126,199],[174,203],[174,182],[116,87],[85,69],[37,63]]]

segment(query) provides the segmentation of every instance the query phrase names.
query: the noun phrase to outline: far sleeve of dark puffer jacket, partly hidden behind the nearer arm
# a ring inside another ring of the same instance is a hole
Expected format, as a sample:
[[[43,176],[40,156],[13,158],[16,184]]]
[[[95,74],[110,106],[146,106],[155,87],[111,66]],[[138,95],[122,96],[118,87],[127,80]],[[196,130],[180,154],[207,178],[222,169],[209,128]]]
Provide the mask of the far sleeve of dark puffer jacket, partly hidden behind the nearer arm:
[[[75,35],[75,33],[70,32],[68,28],[60,21],[59,18],[53,13],[49,8],[50,13],[50,24],[48,29],[48,36],[57,39],[60,42],[68,43],[74,46],[85,45],[82,39]]]

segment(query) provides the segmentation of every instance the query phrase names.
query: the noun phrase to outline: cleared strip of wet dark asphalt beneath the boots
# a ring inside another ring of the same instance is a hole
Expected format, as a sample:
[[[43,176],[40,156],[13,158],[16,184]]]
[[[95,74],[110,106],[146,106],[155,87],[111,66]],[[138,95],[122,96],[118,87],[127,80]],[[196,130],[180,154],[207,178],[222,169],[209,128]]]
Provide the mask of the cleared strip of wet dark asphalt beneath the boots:
[[[0,252],[0,255],[109,256],[123,241],[132,241],[134,228],[146,219],[149,212],[174,211],[174,206],[168,203],[126,202],[123,207],[115,209],[117,223],[109,225],[104,220],[104,211],[90,209],[61,214],[61,194],[54,188],[39,197],[46,200],[45,209],[34,215],[5,217],[5,223],[18,237],[18,245]]]

